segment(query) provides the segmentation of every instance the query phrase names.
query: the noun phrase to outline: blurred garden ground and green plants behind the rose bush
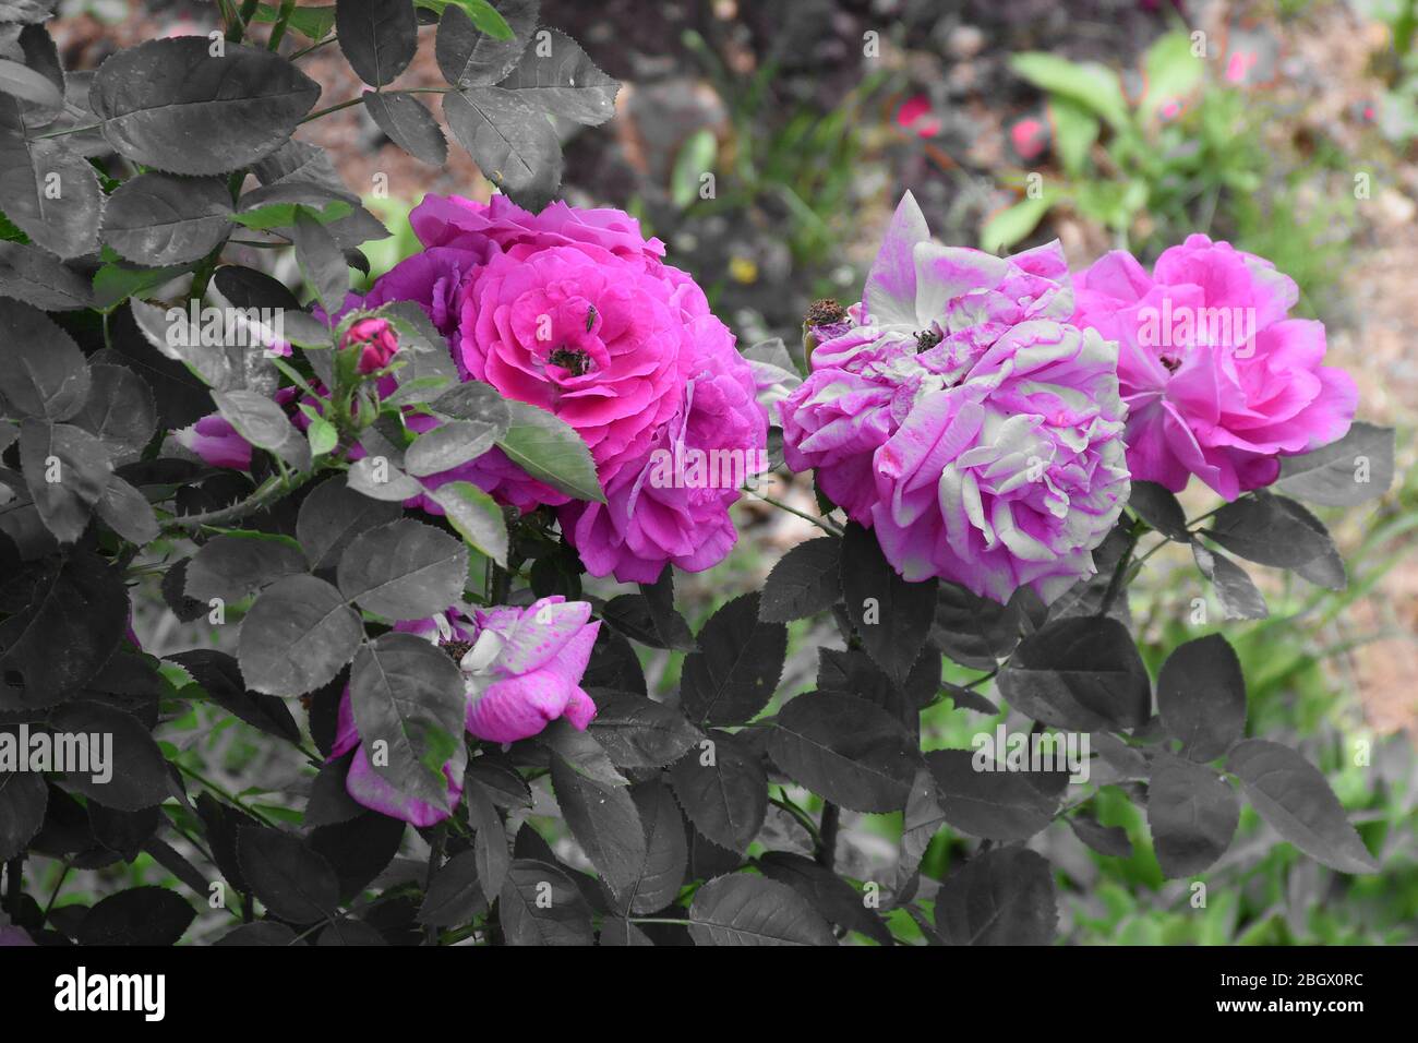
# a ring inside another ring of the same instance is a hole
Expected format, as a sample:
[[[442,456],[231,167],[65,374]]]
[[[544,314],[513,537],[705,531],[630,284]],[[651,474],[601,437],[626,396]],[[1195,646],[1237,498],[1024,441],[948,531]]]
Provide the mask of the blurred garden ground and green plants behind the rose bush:
[[[1299,312],[1326,322],[1333,365],[1360,385],[1360,414],[1398,427],[1390,495],[1323,518],[1349,565],[1347,590],[1275,582],[1265,587],[1271,619],[1219,623],[1211,605],[1212,622],[1198,623],[1207,590],[1176,545],[1150,558],[1132,590],[1154,671],[1177,644],[1225,629],[1245,668],[1255,731],[1285,735],[1324,771],[1383,873],[1334,874],[1276,843],[1246,810],[1232,849],[1205,876],[1198,908],[1191,881],[1161,878],[1141,813],[1110,788],[1093,809],[1127,830],[1132,857],[1100,856],[1064,824],[1034,841],[1064,867],[1069,942],[1418,941],[1418,356],[1408,349],[1418,333],[1415,6],[543,0],[545,21],[625,82],[615,121],[566,128],[564,194],[638,216],[665,240],[669,261],[705,287],[742,345],[771,336],[793,343],[810,301],[854,301],[909,189],[943,241],[1014,250],[1059,238],[1073,267],[1115,247],[1150,264],[1193,231],[1258,253],[1300,285]],[[71,68],[155,34],[206,31],[213,20],[211,6],[196,0],[64,0],[61,13],[51,31]],[[437,82],[437,71],[423,67],[431,51],[421,48],[408,85]],[[336,61],[313,55],[308,71],[325,85],[323,104],[354,96]],[[376,274],[418,248],[407,211],[424,193],[489,192],[467,158],[444,170],[408,159],[359,106],[311,133],[391,231],[366,247]],[[299,281],[292,258],[265,251],[245,263]],[[813,509],[801,477],[776,480],[770,491]],[[1214,505],[1195,490],[1184,504],[1188,514]],[[695,629],[718,605],[760,587],[781,552],[814,534],[753,497],[736,514],[743,538],[729,559],[678,578]],[[230,641],[234,627],[177,623],[149,586],[136,627],[152,651]],[[610,583],[588,589],[615,592]],[[795,623],[790,637],[780,700],[814,687],[818,647],[839,647],[831,622]],[[682,656],[648,656],[651,684],[672,691]],[[978,674],[947,663],[946,677]],[[289,817],[285,809],[299,806],[292,798],[309,785],[299,756],[191,705],[167,729],[187,769],[274,822]],[[946,701],[923,717],[922,734],[927,749],[968,746],[1003,719]],[[262,788],[242,789],[250,779]],[[777,796],[817,810],[804,792]],[[899,819],[845,816],[849,874],[889,878]],[[537,826],[559,833],[554,820],[539,817]],[[774,847],[807,850],[807,834],[778,807],[767,836]],[[966,850],[946,830],[923,868],[943,876]],[[559,854],[577,860],[569,839]],[[146,856],[128,871],[163,878]],[[85,900],[82,874],[71,877],[60,904]],[[903,914],[893,928],[917,937]]]

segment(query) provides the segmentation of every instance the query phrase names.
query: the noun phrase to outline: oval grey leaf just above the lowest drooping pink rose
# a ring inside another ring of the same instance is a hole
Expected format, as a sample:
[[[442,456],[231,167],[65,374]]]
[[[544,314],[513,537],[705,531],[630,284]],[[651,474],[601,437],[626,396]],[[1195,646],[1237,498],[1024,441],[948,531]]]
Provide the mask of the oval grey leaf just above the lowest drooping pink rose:
[[[432,525],[401,518],[356,536],[337,575],[340,592],[366,612],[425,619],[462,599],[468,549]]]

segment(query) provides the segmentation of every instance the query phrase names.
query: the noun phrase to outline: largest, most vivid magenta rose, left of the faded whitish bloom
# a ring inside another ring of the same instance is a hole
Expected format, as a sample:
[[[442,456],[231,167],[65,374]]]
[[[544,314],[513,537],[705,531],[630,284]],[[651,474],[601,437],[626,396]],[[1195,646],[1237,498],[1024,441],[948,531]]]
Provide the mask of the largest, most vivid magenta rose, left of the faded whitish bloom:
[[[652,580],[665,562],[722,561],[737,485],[696,485],[693,473],[652,484],[652,456],[732,450],[750,465],[739,471],[753,471],[767,421],[733,335],[693,280],[664,263],[664,244],[618,210],[553,203],[532,214],[502,196],[428,196],[410,223],[425,251],[347,305],[415,301],[464,379],[545,409],[586,440],[608,502],[573,504],[501,450],[424,482],[467,480],[522,511],[562,508],[594,575]]]

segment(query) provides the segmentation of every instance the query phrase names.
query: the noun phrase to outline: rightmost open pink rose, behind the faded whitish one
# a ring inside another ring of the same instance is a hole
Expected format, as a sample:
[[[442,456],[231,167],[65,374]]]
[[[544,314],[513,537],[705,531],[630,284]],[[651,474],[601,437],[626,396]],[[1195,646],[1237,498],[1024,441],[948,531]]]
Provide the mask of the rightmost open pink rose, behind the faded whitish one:
[[[1341,438],[1354,382],[1324,360],[1324,325],[1269,261],[1188,236],[1153,274],[1115,250],[1078,275],[1073,322],[1117,341],[1127,465],[1173,491],[1195,474],[1227,500],[1269,485],[1280,457]]]

